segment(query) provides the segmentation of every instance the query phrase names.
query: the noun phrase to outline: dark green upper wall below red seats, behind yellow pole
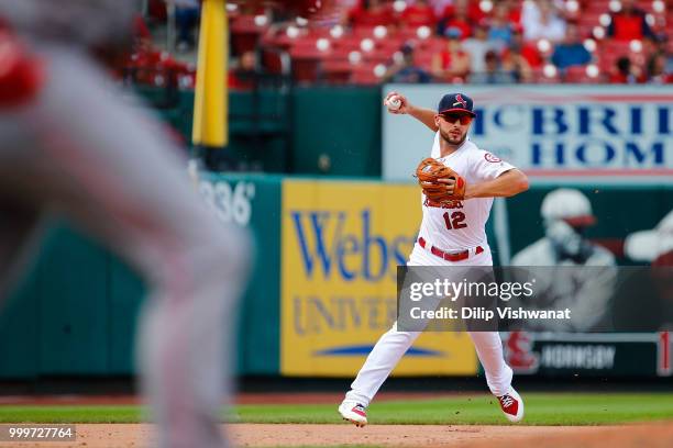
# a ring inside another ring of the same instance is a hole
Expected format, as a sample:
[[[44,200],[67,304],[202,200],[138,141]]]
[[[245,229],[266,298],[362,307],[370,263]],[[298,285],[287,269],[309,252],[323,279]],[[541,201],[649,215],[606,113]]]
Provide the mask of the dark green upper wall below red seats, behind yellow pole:
[[[194,92],[139,93],[186,141]],[[228,154],[243,171],[380,176],[380,89],[302,87],[230,91]]]

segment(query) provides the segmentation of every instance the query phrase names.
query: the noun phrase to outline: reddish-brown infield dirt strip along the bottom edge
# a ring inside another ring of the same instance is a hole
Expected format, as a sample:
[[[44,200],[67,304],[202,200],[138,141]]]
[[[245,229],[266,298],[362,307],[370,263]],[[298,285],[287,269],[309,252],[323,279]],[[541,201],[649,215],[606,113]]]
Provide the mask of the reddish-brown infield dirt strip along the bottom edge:
[[[373,445],[385,447],[664,448],[673,446],[673,423],[624,426],[440,426],[440,425],[229,425],[238,447]],[[77,441],[0,447],[139,448],[151,437],[146,424],[77,425]],[[507,445],[505,445],[507,444]]]

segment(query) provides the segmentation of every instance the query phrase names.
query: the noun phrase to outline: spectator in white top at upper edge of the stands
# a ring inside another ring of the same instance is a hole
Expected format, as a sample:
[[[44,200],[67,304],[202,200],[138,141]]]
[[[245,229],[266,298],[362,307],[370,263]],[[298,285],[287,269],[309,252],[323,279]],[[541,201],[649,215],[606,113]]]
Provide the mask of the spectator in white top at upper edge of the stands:
[[[526,41],[547,38],[551,42],[560,42],[565,35],[562,9],[552,0],[534,0],[523,3],[521,25],[523,25]]]

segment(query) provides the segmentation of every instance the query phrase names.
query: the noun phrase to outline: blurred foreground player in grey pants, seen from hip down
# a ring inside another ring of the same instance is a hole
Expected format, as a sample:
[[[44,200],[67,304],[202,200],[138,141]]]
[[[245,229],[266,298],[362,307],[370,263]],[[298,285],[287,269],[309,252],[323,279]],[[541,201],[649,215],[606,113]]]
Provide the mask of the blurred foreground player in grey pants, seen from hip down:
[[[164,126],[90,56],[124,41],[135,3],[0,0],[13,30],[0,34],[0,299],[41,219],[70,219],[150,285],[136,355],[158,446],[221,448],[250,248],[195,191]]]

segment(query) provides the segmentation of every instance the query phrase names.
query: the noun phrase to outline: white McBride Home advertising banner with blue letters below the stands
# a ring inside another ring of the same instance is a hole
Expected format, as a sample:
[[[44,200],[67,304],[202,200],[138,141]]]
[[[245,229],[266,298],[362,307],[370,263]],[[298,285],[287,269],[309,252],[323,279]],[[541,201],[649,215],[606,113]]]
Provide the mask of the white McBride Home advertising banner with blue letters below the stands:
[[[673,182],[671,86],[402,86],[416,105],[437,110],[445,93],[474,100],[470,137],[534,181]],[[410,116],[383,115],[383,173],[410,180],[430,154],[432,131]]]

